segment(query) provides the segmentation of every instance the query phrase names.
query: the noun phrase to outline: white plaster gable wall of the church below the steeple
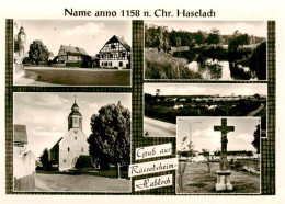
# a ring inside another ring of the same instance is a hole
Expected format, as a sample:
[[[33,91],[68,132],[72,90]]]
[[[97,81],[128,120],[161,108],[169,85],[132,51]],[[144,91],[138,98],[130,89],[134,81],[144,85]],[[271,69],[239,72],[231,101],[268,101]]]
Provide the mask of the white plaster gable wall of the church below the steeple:
[[[59,171],[71,169],[71,160],[80,155],[89,155],[87,136],[80,128],[70,128],[59,143]]]

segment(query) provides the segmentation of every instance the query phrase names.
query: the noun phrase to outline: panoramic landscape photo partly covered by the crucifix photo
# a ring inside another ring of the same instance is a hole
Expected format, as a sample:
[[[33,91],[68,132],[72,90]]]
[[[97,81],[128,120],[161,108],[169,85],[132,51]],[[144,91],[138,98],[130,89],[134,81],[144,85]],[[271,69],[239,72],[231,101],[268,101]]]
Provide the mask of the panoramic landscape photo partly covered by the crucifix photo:
[[[266,83],[145,83],[144,135],[175,137],[178,116],[260,116],[266,137]]]

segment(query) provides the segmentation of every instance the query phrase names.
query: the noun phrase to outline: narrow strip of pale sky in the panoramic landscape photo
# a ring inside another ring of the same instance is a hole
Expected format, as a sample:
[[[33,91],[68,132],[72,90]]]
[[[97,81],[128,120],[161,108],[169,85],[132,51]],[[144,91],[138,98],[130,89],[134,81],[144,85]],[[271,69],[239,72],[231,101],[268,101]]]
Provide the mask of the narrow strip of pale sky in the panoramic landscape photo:
[[[156,94],[160,89],[160,95],[253,95],[255,93],[267,95],[266,83],[145,83],[145,93]]]

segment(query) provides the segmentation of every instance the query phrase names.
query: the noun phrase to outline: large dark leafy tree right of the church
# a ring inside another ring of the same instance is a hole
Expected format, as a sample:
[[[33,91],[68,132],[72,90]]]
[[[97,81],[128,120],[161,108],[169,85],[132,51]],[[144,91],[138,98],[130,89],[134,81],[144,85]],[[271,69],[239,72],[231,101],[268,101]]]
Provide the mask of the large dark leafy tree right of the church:
[[[91,135],[89,152],[98,160],[101,169],[107,169],[110,163],[117,167],[117,178],[121,177],[121,165],[129,165],[130,160],[130,112],[118,104],[109,104],[91,117]]]

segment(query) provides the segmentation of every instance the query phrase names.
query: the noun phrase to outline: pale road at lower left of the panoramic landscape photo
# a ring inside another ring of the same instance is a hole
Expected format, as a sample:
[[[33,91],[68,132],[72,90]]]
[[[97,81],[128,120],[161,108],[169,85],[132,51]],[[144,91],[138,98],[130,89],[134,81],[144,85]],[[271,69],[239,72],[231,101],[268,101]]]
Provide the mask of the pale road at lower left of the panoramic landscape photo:
[[[149,117],[144,117],[144,129],[148,132],[150,137],[175,137],[176,124],[166,123]]]

